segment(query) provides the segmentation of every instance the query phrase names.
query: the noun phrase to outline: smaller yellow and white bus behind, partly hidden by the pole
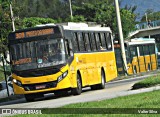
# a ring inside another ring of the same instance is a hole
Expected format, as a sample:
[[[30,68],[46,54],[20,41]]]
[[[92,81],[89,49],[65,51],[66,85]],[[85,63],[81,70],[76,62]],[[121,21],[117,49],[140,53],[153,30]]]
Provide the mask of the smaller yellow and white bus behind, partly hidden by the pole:
[[[128,74],[147,72],[158,68],[155,39],[135,38],[126,41],[124,45]],[[124,73],[119,44],[115,44],[115,52],[118,73]]]

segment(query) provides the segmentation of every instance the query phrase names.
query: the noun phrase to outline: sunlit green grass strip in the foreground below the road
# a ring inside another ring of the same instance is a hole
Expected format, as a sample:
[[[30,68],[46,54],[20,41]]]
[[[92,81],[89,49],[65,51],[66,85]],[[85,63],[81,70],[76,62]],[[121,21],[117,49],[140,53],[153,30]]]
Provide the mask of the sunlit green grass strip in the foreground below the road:
[[[63,106],[61,108],[42,109],[42,113],[46,114],[37,115],[37,117],[39,116],[43,117],[142,116],[143,117],[146,116],[147,114],[138,114],[139,110],[144,110],[144,109],[148,110],[149,108],[150,110],[154,110],[160,113],[159,97],[160,97],[160,91],[153,91],[153,92],[123,96],[101,101],[70,104]],[[107,109],[110,111],[107,111]],[[116,112],[118,114],[108,114],[108,112]],[[134,114],[128,114],[130,112],[131,113],[133,112]],[[87,114],[87,113],[92,113],[92,114]],[[19,117],[19,116],[20,115],[15,115],[14,117]],[[26,117],[27,115],[21,115],[21,116]],[[35,115],[29,115],[29,116],[35,117]],[[148,116],[155,117],[155,114],[149,114]]]

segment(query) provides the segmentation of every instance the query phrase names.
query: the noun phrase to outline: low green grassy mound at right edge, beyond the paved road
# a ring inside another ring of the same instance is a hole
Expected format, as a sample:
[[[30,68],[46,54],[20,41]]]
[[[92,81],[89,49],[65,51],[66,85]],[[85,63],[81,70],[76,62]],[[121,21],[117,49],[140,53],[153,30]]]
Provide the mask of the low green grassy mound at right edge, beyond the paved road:
[[[158,84],[160,84],[160,75],[155,75],[135,83],[132,89],[147,88]]]

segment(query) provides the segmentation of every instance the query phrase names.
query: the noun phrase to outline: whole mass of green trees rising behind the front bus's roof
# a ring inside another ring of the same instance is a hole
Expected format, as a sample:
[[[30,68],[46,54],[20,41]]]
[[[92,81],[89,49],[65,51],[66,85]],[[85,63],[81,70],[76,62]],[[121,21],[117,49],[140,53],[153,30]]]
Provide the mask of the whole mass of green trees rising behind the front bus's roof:
[[[72,0],[73,19],[68,0],[0,0],[0,53],[7,48],[7,37],[12,31],[10,3],[13,6],[16,30],[45,23],[96,22],[111,27],[117,36],[114,0]],[[134,30],[134,9],[120,10],[124,36]],[[117,37],[118,38],[118,37]]]

